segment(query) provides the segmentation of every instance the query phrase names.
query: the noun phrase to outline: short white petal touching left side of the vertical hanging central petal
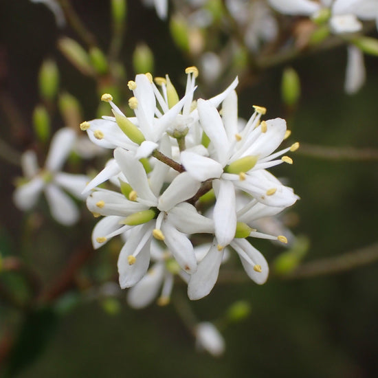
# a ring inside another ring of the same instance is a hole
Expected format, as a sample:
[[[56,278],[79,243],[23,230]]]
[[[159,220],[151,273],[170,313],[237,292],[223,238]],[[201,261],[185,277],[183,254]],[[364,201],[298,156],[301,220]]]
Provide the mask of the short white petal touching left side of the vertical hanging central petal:
[[[199,214],[190,203],[179,203],[168,212],[168,221],[186,234],[214,232],[214,221]]]

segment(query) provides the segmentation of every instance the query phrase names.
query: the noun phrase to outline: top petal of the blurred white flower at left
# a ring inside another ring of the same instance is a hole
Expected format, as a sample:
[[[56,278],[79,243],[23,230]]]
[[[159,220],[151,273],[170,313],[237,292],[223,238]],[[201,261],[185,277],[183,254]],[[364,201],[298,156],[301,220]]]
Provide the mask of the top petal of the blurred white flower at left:
[[[48,170],[56,171],[63,167],[72,146],[74,146],[75,138],[75,131],[68,127],[56,131],[47,154],[45,166]]]

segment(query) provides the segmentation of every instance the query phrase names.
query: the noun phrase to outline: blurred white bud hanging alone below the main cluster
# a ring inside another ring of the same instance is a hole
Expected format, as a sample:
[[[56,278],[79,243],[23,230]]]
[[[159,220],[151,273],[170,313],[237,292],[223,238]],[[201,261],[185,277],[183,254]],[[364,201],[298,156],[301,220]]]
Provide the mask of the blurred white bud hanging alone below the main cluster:
[[[223,355],[225,352],[225,340],[214,324],[201,322],[195,327],[194,333],[199,350],[205,350],[214,357]]]

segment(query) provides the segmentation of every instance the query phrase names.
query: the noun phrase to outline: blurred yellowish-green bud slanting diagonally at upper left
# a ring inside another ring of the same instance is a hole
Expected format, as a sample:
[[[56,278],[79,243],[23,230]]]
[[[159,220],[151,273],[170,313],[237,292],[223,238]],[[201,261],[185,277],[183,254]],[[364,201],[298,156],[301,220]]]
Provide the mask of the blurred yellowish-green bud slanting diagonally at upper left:
[[[71,38],[63,37],[58,41],[60,52],[85,75],[93,75],[91,59],[89,55],[76,41]]]

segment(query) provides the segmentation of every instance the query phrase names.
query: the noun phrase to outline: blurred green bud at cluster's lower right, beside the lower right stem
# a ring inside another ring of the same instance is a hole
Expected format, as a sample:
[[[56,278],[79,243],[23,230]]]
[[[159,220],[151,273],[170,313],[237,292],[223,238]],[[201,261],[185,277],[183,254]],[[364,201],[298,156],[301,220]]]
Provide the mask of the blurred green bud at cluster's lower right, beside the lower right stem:
[[[309,251],[309,239],[305,236],[296,238],[293,247],[280,254],[273,262],[274,271],[277,274],[285,275],[296,269],[302,258]]]

